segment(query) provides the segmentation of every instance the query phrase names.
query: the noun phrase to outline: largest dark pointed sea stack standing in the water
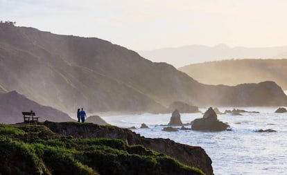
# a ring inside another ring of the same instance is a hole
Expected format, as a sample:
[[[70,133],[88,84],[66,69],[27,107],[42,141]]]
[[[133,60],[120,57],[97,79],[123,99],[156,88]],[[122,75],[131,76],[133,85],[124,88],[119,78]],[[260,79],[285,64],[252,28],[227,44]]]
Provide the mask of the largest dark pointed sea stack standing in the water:
[[[211,107],[205,112],[203,118],[191,122],[191,129],[200,131],[224,131],[229,125],[217,120],[217,115]]]

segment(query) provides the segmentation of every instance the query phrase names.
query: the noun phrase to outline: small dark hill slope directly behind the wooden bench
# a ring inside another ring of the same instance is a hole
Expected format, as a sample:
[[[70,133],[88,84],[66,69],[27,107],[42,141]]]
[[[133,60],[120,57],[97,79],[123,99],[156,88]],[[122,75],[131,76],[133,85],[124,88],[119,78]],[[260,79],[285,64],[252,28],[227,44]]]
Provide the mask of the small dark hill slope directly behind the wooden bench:
[[[12,91],[0,94],[0,123],[14,124],[24,122],[22,112],[34,111],[39,120],[53,122],[73,121],[66,113],[57,109],[45,107],[29,100],[24,95]]]

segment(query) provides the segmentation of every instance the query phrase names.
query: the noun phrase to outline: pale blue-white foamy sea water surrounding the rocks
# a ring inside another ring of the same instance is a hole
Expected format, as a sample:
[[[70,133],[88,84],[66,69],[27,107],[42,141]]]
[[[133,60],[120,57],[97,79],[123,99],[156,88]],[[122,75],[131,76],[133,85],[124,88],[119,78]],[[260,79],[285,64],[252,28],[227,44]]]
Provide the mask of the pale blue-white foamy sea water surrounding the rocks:
[[[219,108],[220,111],[232,108]],[[277,107],[248,107],[243,116],[218,115],[232,131],[162,131],[171,114],[105,116],[103,119],[119,127],[137,127],[146,123],[150,129],[134,129],[146,138],[170,138],[175,142],[200,146],[212,160],[214,174],[287,174],[287,113],[274,113]],[[200,109],[204,112],[206,109]],[[201,113],[182,113],[183,123],[202,118]],[[189,126],[190,127],[190,126]],[[259,133],[259,129],[275,129],[275,133]]]

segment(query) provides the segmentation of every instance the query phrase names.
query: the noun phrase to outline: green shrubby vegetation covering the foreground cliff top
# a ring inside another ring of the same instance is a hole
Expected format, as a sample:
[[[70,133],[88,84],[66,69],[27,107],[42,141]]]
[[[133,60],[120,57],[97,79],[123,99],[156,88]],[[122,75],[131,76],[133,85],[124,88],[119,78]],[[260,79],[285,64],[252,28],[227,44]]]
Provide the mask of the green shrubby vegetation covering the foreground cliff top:
[[[85,125],[85,124],[84,124]],[[0,125],[0,174],[203,174],[142,145],[73,138],[44,125]]]

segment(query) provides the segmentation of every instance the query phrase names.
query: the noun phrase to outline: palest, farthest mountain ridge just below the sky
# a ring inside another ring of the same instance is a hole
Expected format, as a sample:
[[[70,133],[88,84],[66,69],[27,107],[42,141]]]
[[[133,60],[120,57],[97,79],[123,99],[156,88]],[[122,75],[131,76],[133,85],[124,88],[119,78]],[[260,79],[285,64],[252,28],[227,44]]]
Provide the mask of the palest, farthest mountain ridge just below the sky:
[[[219,44],[214,47],[191,45],[179,48],[161,48],[157,50],[142,50],[139,54],[153,62],[167,62],[179,68],[198,62],[210,62],[223,59],[244,59],[244,58],[287,58],[287,46],[246,48],[229,47]]]

